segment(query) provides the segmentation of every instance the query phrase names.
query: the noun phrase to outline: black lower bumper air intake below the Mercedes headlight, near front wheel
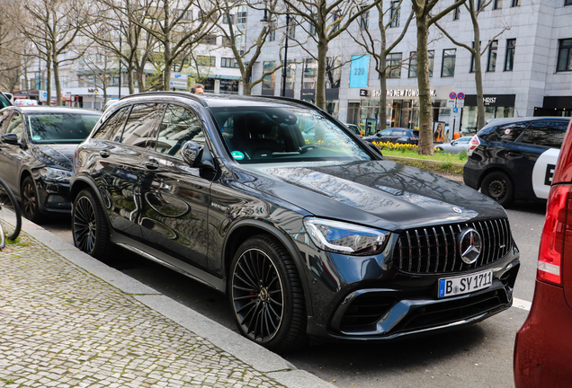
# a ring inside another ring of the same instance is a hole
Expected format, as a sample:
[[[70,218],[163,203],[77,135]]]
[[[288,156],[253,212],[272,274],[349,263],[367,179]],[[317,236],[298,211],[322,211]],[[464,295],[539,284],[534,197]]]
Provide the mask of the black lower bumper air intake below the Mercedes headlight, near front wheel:
[[[380,321],[381,317],[395,304],[393,298],[382,293],[367,293],[357,296],[345,311],[340,329],[342,331],[371,331],[371,325]]]

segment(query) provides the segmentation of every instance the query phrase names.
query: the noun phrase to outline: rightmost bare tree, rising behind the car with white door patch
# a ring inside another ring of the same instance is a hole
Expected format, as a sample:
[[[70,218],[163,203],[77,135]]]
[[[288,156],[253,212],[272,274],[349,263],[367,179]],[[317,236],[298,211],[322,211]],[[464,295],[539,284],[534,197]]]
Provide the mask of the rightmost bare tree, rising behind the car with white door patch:
[[[487,52],[487,49],[490,47],[490,45],[493,44],[494,41],[496,41],[496,38],[502,35],[503,32],[505,32],[506,30],[510,30],[510,27],[503,28],[502,31],[498,32],[493,38],[488,40],[488,43],[487,45],[485,45],[484,48],[482,49],[480,48],[480,28],[478,27],[478,15],[487,7],[488,4],[491,4],[492,1],[493,0],[488,0],[486,3],[481,4],[480,8],[478,9],[475,6],[475,0],[467,0],[467,3],[465,3],[465,8],[467,9],[467,11],[469,11],[470,22],[472,22],[473,24],[474,44],[472,48],[469,47],[469,45],[460,43],[458,40],[455,40],[449,32],[445,31],[445,29],[443,29],[442,26],[439,25],[439,23],[435,23],[437,28],[441,30],[442,33],[444,33],[447,36],[447,38],[451,40],[451,42],[453,42],[455,45],[459,47],[466,48],[467,50],[469,50],[469,53],[473,57],[473,66],[474,66],[473,70],[475,72],[475,86],[477,89],[477,119],[478,119],[477,130],[485,127],[485,125],[487,124],[485,122],[485,101],[483,100],[483,95],[484,95],[483,72],[480,64],[480,58],[483,56],[483,54]]]

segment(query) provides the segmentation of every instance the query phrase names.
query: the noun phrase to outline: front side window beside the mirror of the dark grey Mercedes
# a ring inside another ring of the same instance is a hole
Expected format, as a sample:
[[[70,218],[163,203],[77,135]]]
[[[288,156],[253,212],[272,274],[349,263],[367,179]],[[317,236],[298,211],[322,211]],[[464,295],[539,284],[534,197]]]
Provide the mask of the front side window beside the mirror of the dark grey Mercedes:
[[[189,140],[204,145],[201,120],[188,108],[168,105],[159,128],[156,152],[181,158],[181,148]]]

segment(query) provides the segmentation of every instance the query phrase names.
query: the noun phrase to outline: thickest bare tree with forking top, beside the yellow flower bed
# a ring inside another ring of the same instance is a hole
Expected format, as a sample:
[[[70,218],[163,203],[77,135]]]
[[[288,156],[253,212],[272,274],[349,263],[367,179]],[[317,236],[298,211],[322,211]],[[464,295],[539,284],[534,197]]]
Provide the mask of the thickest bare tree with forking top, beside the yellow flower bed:
[[[434,154],[433,149],[433,126],[431,91],[429,84],[429,54],[427,43],[429,40],[429,27],[450,13],[452,10],[464,4],[467,0],[453,2],[440,13],[432,14],[441,0],[411,0],[413,12],[417,24],[417,84],[419,85],[419,154]]]

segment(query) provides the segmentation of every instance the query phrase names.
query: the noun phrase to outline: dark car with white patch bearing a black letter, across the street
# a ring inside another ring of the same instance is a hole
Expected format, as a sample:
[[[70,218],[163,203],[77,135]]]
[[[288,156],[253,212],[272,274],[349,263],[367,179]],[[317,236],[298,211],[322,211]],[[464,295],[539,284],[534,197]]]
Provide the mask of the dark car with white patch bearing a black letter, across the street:
[[[495,119],[469,141],[465,184],[503,206],[546,200],[569,118]]]

